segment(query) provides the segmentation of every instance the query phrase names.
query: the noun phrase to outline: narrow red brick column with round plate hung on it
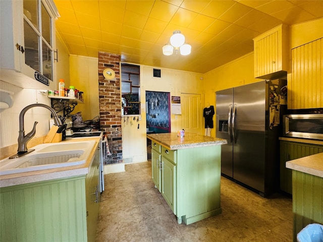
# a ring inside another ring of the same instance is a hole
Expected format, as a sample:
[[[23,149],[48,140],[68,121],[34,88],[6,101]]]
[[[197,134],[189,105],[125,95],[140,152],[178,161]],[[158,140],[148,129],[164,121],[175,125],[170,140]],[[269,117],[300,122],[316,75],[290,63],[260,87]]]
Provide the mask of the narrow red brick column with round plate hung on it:
[[[100,128],[107,135],[111,156],[104,160],[105,164],[122,162],[122,123],[120,94],[120,55],[98,53],[98,83]],[[103,70],[111,68],[116,73],[113,80],[105,80]]]

